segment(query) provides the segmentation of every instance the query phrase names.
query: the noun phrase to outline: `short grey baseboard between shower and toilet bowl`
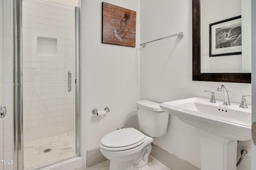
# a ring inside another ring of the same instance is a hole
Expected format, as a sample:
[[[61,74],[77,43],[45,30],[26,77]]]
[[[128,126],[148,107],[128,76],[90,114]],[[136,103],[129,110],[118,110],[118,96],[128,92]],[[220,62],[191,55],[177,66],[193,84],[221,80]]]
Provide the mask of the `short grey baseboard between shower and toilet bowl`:
[[[108,160],[108,159],[105,156],[103,156],[103,154],[100,152],[100,148],[87,150],[87,161],[86,161],[87,167],[93,166],[100,162],[104,162],[105,160]]]

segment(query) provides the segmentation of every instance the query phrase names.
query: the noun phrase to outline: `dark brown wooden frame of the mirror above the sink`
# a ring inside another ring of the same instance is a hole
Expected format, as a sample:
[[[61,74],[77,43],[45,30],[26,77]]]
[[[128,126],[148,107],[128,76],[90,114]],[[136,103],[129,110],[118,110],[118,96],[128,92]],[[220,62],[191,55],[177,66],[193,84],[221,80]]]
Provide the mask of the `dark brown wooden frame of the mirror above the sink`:
[[[200,0],[192,0],[193,81],[251,83],[251,73],[201,73],[200,53]]]

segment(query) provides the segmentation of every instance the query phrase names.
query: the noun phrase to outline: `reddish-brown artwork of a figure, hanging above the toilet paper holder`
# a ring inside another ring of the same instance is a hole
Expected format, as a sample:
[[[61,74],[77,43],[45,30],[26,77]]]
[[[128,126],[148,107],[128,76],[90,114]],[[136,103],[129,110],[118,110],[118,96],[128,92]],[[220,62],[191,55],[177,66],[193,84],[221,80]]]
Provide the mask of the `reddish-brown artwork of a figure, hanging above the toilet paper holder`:
[[[102,2],[102,43],[135,47],[136,11]]]

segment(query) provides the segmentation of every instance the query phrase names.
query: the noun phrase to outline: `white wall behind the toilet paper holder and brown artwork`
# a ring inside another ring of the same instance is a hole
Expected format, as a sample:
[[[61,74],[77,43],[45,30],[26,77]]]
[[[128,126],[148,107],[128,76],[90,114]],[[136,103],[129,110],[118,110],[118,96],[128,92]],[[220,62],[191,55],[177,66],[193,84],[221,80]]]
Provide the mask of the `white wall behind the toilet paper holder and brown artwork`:
[[[138,126],[135,107],[140,99],[140,1],[105,1],[137,12],[136,47],[101,43],[102,0],[85,2],[82,67],[86,73],[82,75],[82,84],[86,98],[82,99],[81,107],[82,114],[86,110],[87,149],[91,150],[99,148],[101,138],[116,128]],[[92,115],[92,109],[103,110],[106,106],[110,112],[105,117]]]

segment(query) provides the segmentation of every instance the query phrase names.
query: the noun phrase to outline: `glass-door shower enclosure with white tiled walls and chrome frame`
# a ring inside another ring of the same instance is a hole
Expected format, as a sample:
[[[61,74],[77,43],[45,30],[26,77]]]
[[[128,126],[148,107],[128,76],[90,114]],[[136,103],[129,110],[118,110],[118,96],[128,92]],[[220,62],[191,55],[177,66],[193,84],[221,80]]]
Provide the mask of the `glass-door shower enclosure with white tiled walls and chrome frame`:
[[[79,8],[14,0],[14,162],[79,155]]]

